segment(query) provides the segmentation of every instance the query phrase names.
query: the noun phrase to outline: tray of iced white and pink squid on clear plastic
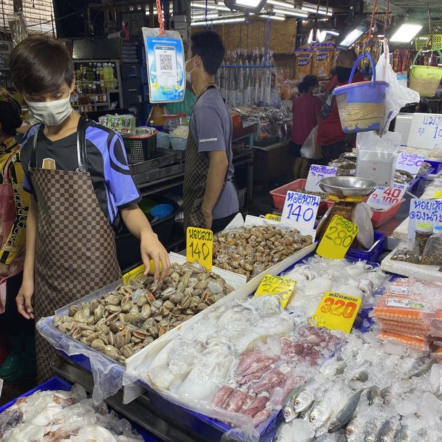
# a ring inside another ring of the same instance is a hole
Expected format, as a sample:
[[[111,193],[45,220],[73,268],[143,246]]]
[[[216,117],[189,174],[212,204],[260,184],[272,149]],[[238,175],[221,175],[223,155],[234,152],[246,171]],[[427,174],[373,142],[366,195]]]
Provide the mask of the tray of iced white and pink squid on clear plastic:
[[[226,441],[255,441],[335,345],[332,332],[301,325],[276,298],[232,300],[158,343],[124,384],[138,376],[167,400],[234,427]]]

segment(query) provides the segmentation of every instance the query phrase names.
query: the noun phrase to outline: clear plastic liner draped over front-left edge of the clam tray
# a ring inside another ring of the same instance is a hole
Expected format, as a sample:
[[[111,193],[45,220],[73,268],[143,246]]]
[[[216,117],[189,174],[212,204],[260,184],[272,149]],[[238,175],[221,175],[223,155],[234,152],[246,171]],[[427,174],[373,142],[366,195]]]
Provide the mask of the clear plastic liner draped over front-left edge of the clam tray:
[[[52,327],[52,316],[41,318],[37,323],[37,330],[52,347],[61,350],[68,356],[85,356],[90,361],[90,369],[94,378],[93,402],[98,404],[104,399],[113,396],[122,388],[124,367],[112,362],[106,356],[86,347],[70,336],[59,332]]]

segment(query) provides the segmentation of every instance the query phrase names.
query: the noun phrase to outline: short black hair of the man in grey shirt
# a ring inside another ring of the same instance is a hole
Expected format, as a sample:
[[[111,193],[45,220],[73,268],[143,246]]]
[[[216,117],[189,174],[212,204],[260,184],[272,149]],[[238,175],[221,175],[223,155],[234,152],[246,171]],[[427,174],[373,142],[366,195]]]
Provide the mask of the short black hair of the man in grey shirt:
[[[206,73],[215,75],[224,58],[224,45],[216,32],[203,30],[191,35],[191,52],[192,57],[201,57]]]

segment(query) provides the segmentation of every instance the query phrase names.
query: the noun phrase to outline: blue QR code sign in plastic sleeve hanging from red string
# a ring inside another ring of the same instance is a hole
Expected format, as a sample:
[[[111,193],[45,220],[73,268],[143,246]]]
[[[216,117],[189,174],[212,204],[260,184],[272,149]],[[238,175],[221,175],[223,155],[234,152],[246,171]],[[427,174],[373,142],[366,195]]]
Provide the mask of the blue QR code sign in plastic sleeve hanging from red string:
[[[182,102],[186,90],[184,47],[179,32],[142,28],[149,102]],[[146,99],[146,97],[144,97]]]

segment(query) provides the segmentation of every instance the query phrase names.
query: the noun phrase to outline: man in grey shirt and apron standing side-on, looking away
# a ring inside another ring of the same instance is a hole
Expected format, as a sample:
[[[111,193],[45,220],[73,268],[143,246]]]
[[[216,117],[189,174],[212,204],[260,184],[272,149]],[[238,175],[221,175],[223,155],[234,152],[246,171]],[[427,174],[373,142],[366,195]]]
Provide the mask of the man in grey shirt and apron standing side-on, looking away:
[[[233,185],[232,124],[215,84],[224,46],[215,32],[192,34],[186,75],[197,97],[190,121],[184,169],[184,227],[220,231],[239,211]]]

